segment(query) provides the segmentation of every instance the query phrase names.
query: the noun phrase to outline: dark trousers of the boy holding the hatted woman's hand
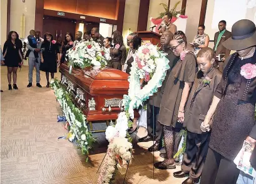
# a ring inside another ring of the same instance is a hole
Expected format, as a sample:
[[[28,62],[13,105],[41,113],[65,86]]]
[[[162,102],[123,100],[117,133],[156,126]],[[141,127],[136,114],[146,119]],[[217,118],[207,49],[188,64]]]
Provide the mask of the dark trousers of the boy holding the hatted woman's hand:
[[[186,150],[182,160],[182,171],[189,173],[193,181],[199,181],[207,156],[210,133],[197,134],[187,131]]]

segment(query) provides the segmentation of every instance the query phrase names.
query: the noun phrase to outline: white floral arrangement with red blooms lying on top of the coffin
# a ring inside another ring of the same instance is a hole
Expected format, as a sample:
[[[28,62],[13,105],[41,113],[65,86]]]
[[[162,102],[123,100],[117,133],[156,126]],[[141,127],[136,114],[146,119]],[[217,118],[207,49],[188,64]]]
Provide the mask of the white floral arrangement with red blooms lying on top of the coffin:
[[[110,53],[101,48],[95,41],[83,41],[67,51],[68,61],[71,66],[86,68],[88,66],[105,67],[110,60]]]

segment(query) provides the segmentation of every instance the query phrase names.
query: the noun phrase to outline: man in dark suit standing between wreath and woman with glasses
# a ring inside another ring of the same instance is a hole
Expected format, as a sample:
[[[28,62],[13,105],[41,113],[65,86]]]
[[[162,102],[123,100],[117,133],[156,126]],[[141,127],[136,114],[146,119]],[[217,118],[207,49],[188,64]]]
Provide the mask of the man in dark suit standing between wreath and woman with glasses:
[[[163,136],[163,125],[157,121],[158,114],[160,110],[161,105],[161,98],[163,96],[163,91],[165,89],[166,81],[168,79],[168,76],[175,64],[178,61],[178,58],[173,54],[172,50],[170,49],[170,41],[173,38],[173,33],[171,31],[165,31],[163,32],[161,36],[161,46],[162,50],[167,54],[166,58],[169,60],[169,66],[170,69],[167,70],[165,80],[163,81],[163,84],[161,86],[161,90],[158,90],[158,92],[154,93],[153,96],[150,96],[150,101],[148,102],[147,107],[147,124],[148,124],[148,135],[140,138],[138,141],[140,142],[148,142],[153,140],[153,126],[155,124],[155,144],[152,145],[150,148],[148,148],[148,151],[157,151],[161,149],[161,138]],[[154,115],[153,115],[153,108],[154,108]]]

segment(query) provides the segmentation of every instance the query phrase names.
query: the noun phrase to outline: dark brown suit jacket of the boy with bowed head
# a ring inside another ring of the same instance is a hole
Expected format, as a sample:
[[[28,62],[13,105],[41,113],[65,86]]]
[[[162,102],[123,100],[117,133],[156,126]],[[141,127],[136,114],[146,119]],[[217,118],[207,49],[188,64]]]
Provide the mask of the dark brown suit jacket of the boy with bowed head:
[[[187,130],[192,133],[203,133],[200,125],[205,120],[214,93],[222,79],[222,73],[217,68],[212,68],[207,76],[211,79],[210,84],[203,85],[203,73],[201,70],[198,71],[185,108],[183,126],[187,126]]]

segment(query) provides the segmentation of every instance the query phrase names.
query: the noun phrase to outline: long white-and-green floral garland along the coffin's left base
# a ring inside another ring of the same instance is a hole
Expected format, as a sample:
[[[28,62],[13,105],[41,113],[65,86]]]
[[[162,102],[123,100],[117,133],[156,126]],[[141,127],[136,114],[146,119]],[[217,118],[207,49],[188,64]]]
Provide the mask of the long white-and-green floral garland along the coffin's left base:
[[[57,79],[52,79],[50,86],[54,90],[56,100],[59,102],[68,122],[68,140],[76,142],[76,145],[82,150],[82,153],[88,155],[93,142],[95,142],[95,138],[93,138],[90,131],[88,131],[86,116],[83,115],[81,110],[74,106],[68,91],[61,86]],[[88,157],[86,158],[86,161],[87,160]]]

